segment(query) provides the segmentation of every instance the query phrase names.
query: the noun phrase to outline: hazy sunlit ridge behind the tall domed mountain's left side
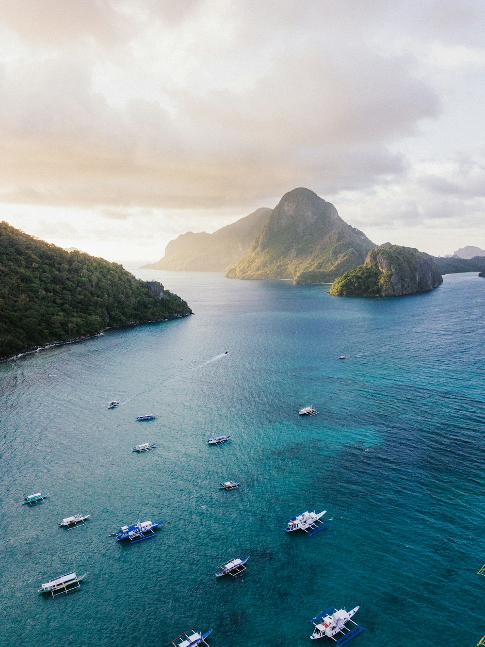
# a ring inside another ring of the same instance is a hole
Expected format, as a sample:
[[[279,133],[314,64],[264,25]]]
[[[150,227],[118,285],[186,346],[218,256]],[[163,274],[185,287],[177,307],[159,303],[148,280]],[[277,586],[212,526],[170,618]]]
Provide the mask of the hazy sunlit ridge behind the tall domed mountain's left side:
[[[271,209],[257,209],[213,234],[188,232],[170,241],[164,258],[143,268],[193,272],[225,272],[246,252]]]

